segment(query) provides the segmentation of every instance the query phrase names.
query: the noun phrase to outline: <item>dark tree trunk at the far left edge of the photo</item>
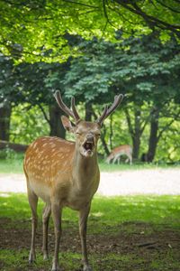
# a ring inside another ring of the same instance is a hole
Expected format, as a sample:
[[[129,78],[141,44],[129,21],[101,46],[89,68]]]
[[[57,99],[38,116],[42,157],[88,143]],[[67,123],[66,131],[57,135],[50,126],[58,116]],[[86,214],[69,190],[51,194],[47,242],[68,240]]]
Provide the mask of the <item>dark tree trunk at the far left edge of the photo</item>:
[[[0,139],[9,141],[10,136],[10,120],[12,107],[10,104],[5,104],[0,107]]]

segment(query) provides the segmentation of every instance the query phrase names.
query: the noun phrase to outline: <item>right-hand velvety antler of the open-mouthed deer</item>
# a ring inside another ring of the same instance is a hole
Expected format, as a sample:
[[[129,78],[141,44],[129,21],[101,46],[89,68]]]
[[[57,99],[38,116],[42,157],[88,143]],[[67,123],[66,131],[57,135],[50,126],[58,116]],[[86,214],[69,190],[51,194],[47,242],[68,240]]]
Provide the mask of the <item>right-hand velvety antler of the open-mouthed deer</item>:
[[[112,106],[109,107],[109,109],[108,109],[107,106],[104,107],[102,116],[99,117],[99,118],[96,120],[96,122],[97,122],[98,124],[100,124],[100,126],[103,125],[103,120],[104,120],[106,117],[108,117],[110,114],[112,114],[112,112],[113,112],[113,111],[121,104],[122,98],[123,98],[123,95],[122,95],[122,94],[116,95],[116,96],[114,97],[114,101],[113,101],[113,103],[112,103]]]

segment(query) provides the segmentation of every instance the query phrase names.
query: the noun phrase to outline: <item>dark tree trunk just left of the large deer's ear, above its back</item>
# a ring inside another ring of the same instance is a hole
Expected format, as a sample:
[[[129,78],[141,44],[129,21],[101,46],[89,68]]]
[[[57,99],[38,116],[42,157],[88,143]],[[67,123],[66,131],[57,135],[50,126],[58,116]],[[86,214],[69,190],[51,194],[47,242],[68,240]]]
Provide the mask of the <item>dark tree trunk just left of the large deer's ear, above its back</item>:
[[[58,107],[58,105],[49,106],[49,135],[65,138],[66,131],[60,119],[62,115],[64,115],[64,112]]]

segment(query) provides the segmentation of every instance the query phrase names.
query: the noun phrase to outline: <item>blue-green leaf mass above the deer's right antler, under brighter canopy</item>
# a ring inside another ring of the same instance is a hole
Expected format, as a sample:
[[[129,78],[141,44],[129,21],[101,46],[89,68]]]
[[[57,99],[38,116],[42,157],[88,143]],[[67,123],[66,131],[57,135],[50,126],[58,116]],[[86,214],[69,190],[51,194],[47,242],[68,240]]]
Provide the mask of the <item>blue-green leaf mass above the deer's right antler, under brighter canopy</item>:
[[[71,61],[64,79],[68,97],[103,101],[105,94],[110,98],[122,91],[130,94],[128,101],[140,104],[177,96],[180,61],[178,44],[173,40],[162,44],[154,34],[120,39],[120,43],[94,39],[81,42],[79,50],[83,55]],[[174,80],[169,84],[172,76]]]

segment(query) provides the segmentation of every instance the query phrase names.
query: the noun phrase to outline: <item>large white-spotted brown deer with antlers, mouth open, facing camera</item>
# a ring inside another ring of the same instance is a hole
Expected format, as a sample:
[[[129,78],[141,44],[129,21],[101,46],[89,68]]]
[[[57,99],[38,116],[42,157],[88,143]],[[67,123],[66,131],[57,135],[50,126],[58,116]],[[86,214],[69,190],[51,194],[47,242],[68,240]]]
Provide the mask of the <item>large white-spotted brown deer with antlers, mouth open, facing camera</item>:
[[[97,143],[101,135],[103,121],[120,105],[123,95],[116,95],[111,107],[105,106],[103,113],[94,122],[81,119],[76,110],[75,98],[71,107],[63,102],[60,92],[54,94],[58,107],[66,116],[61,117],[65,129],[75,135],[75,142],[56,136],[42,136],[27,149],[23,169],[27,182],[27,195],[31,208],[31,249],[29,263],[36,259],[35,235],[38,223],[37,204],[41,198],[45,202],[42,214],[42,253],[49,258],[48,228],[52,215],[55,234],[55,249],[51,271],[62,270],[58,263],[58,249],[62,234],[61,218],[64,207],[79,213],[79,235],[82,248],[84,271],[92,271],[86,248],[87,219],[91,201],[100,182],[97,161]],[[68,117],[72,117],[71,122]]]

